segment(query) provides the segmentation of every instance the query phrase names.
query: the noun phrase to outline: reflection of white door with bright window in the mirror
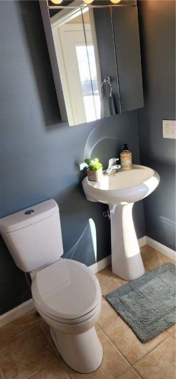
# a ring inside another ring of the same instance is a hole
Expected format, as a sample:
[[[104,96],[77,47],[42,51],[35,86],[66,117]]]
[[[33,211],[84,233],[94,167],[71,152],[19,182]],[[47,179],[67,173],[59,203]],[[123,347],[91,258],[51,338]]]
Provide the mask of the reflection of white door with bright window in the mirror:
[[[88,7],[59,10],[51,26],[69,125],[100,118],[100,69]]]

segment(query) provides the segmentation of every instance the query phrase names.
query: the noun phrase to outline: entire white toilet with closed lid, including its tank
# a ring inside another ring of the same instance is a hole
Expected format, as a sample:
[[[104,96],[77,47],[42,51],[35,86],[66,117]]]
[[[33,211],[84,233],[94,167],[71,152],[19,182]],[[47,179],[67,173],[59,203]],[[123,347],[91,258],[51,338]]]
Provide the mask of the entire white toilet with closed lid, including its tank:
[[[86,265],[61,258],[56,201],[0,219],[0,233],[15,264],[30,274],[33,303],[50,325],[63,360],[80,373],[95,371],[103,356],[94,327],[101,311],[101,289]]]

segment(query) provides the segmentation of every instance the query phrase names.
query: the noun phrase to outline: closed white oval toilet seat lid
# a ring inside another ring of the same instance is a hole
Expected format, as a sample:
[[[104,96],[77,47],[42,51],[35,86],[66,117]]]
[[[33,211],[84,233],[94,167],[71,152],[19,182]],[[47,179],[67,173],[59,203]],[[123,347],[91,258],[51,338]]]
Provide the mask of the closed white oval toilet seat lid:
[[[32,297],[43,313],[71,320],[90,312],[99,302],[96,276],[80,262],[60,258],[36,272]]]

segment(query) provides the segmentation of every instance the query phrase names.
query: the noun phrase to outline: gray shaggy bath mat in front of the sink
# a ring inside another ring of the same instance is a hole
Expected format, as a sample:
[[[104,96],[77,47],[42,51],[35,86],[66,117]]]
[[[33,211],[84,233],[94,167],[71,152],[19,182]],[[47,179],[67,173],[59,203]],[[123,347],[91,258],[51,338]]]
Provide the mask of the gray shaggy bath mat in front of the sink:
[[[166,263],[106,295],[142,342],[176,322],[176,266]]]

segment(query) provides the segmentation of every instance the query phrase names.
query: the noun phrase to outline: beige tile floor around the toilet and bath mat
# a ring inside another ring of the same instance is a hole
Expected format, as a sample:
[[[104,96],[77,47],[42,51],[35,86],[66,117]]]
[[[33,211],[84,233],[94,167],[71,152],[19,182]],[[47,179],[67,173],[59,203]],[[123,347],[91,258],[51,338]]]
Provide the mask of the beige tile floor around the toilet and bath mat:
[[[146,270],[172,262],[144,246]],[[174,262],[173,262],[174,263]],[[94,373],[79,374],[61,359],[48,325],[31,310],[0,329],[0,379],[175,379],[176,327],[141,343],[104,296],[126,282],[111,272],[97,273],[102,312],[96,325],[103,361]]]

